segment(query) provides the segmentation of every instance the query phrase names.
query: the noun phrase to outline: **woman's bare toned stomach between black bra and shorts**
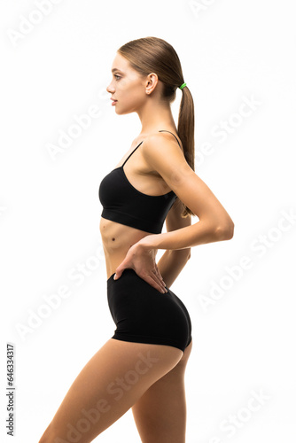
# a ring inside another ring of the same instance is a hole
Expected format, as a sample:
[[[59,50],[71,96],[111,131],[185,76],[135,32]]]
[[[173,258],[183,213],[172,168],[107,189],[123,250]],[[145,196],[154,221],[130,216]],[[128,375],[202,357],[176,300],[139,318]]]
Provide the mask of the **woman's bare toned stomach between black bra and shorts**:
[[[102,237],[107,279],[113,275],[129,251],[141,238],[151,235],[151,232],[131,228],[101,217],[99,230]]]

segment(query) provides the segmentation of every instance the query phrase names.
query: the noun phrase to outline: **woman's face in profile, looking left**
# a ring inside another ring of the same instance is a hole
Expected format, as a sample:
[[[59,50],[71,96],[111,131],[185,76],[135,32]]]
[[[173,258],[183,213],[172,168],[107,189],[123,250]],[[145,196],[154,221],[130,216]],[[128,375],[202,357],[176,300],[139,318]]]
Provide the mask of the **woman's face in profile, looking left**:
[[[129,60],[116,53],[112,65],[112,82],[106,90],[116,101],[115,112],[118,114],[134,113],[139,107],[144,105],[147,96],[145,86],[147,79],[143,77],[131,66]]]

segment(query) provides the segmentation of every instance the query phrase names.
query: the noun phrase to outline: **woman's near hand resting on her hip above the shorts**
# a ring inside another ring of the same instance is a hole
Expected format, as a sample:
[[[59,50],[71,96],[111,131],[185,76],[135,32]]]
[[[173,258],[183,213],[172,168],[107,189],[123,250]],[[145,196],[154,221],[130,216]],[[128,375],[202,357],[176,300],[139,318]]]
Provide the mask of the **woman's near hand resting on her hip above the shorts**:
[[[166,284],[160,276],[160,270],[155,262],[157,249],[147,248],[144,245],[135,243],[121,264],[115,270],[114,280],[118,280],[126,268],[132,268],[143,280],[152,285],[161,293],[167,292]]]

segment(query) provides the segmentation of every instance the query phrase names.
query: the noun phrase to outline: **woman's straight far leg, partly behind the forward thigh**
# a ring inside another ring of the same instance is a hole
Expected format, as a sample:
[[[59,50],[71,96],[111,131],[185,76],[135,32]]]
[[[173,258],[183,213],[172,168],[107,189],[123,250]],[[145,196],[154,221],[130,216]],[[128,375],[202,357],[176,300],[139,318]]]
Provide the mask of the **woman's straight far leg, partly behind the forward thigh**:
[[[143,443],[185,443],[184,374],[192,340],[175,368],[155,382],[132,407]]]

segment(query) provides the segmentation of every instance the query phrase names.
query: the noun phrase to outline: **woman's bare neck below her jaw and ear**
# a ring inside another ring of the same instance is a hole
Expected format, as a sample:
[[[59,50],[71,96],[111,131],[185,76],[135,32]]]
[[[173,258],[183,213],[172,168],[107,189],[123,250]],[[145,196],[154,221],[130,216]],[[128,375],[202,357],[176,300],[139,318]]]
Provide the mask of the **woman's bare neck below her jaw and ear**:
[[[169,104],[160,102],[156,104],[153,99],[149,99],[136,113],[142,124],[140,136],[151,134],[160,129],[169,129],[177,132]]]

